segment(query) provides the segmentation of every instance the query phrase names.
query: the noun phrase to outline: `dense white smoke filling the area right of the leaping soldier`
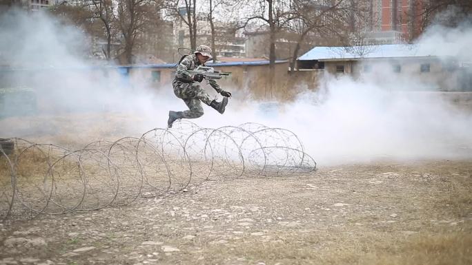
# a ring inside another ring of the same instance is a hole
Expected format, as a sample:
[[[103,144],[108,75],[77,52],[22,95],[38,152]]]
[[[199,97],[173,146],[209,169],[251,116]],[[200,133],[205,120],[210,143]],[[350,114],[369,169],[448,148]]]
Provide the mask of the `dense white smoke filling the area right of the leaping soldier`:
[[[472,61],[471,23],[464,21],[458,28],[433,25],[416,44],[422,52],[462,67]],[[448,56],[441,57],[444,54]],[[199,123],[217,127],[252,121],[291,129],[321,165],[471,158],[472,105],[464,109],[454,104],[450,96],[461,94],[440,92],[441,87],[419,70],[397,75],[391,69],[388,63],[378,63],[356,80],[326,76],[317,92],[300,94],[270,117],[258,115],[259,103],[233,103],[224,117],[211,113]],[[470,92],[462,96],[472,100]]]

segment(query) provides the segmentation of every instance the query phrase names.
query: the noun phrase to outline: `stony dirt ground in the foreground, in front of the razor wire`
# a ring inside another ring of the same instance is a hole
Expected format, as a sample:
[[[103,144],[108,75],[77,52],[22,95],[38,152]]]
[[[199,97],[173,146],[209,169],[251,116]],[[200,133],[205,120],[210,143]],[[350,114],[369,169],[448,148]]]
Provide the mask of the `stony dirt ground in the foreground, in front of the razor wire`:
[[[472,264],[472,160],[206,181],[0,224],[0,264]]]

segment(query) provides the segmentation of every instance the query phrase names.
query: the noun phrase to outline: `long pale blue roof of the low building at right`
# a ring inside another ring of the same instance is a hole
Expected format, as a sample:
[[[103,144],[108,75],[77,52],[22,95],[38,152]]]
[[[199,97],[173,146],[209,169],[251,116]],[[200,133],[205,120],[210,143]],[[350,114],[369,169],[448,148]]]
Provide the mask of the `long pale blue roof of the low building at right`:
[[[299,61],[312,60],[346,60],[346,59],[371,59],[394,57],[425,57],[425,56],[450,56],[447,49],[440,47],[422,47],[415,44],[389,44],[352,47],[314,47],[302,56]]]

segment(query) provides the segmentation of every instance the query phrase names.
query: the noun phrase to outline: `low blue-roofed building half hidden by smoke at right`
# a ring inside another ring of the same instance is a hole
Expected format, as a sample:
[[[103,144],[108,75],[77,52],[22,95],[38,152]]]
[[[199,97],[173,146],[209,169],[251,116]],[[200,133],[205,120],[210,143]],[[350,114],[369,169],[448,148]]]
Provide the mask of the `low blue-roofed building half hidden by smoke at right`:
[[[441,47],[409,44],[314,47],[298,58],[297,70],[355,78],[369,73],[376,78],[415,76],[433,89],[472,91],[472,67],[459,60]]]

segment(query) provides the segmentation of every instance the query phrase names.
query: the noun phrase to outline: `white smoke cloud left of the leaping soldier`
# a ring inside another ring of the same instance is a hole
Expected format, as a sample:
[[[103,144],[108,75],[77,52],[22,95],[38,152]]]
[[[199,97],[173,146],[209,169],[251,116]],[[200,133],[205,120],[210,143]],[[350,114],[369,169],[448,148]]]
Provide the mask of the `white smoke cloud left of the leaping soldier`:
[[[155,116],[157,108],[166,107],[163,97],[173,96],[170,88],[167,93],[157,94],[145,80],[130,81],[120,74],[125,68],[102,67],[90,56],[88,36],[80,28],[64,24],[46,12],[10,10],[1,15],[0,28],[1,87],[35,89],[38,119],[48,116],[48,121],[54,123],[67,114],[98,112],[146,119]],[[0,120],[0,137],[34,136],[35,127],[30,127],[26,135],[15,130],[30,119]],[[81,127],[92,126],[86,120],[70,122],[76,123],[77,134]],[[95,126],[106,125],[100,124],[101,120],[95,122]],[[138,134],[140,129],[148,128],[137,123],[130,131]]]

